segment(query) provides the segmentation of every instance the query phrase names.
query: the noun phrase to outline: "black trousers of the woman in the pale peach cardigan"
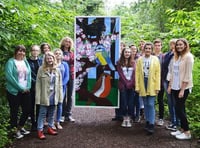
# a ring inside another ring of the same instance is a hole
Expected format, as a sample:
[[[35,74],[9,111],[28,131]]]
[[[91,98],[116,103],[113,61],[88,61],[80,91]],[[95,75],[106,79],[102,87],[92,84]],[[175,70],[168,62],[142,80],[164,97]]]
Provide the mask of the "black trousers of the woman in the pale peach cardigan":
[[[175,102],[176,102],[176,105],[175,105],[176,115],[180,119],[181,128],[184,131],[188,131],[189,130],[189,124],[188,124],[186,111],[185,111],[185,101],[188,97],[189,89],[186,89],[184,91],[183,98],[178,97],[179,92],[180,92],[180,90],[172,90],[172,95],[173,95]]]

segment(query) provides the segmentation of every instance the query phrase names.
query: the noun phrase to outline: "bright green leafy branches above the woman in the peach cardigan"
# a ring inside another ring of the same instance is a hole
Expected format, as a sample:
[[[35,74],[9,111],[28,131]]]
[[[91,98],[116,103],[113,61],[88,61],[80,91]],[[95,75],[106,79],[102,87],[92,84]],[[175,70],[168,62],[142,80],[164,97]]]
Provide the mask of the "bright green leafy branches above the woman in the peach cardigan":
[[[195,56],[200,57],[200,11],[199,5],[194,11],[187,12],[185,10],[175,11],[169,9],[166,13],[169,15],[169,22],[166,26],[170,29],[168,38],[186,38],[191,46]]]

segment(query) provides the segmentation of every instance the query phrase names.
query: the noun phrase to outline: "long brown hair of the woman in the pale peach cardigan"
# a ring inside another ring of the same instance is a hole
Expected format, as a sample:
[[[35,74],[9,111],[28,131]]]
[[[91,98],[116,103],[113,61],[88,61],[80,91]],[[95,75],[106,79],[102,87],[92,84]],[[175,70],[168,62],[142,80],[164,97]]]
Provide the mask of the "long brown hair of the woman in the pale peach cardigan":
[[[182,52],[178,52],[177,51],[177,44],[178,44],[178,41],[181,41],[184,43],[184,45],[186,46],[185,49],[182,51]],[[190,52],[190,46],[189,46],[189,43],[186,39],[184,38],[179,38],[177,39],[176,41],[176,44],[175,44],[175,50],[174,50],[174,58],[175,60],[178,60],[179,56],[184,56],[186,53]]]

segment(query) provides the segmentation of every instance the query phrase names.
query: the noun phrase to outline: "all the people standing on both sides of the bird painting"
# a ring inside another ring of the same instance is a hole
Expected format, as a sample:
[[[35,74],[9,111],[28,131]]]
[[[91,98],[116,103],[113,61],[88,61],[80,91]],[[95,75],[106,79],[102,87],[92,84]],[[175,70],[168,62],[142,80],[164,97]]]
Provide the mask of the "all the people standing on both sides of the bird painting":
[[[144,129],[149,135],[155,129],[155,99],[158,99],[159,120],[164,124],[164,101],[166,92],[171,124],[166,128],[177,139],[190,139],[185,102],[193,87],[193,55],[186,39],[172,39],[170,50],[162,53],[160,39],[140,42],[140,50],[135,45],[121,44],[121,56],[116,63],[119,74],[120,107],[115,110],[113,120],[122,121],[122,127],[131,127],[132,120],[146,121]],[[18,45],[14,57],[6,63],[6,90],[10,107],[11,128],[16,129],[17,139],[30,131],[24,128],[28,117],[32,130],[37,130],[38,138],[45,139],[47,133],[57,135],[62,129],[60,122],[71,121],[72,95],[74,83],[73,40],[65,37],[60,48],[51,52],[48,43],[33,45],[30,57],[26,59],[26,48]],[[40,50],[42,55],[40,55]],[[22,112],[18,121],[19,107]],[[178,129],[177,127],[180,127]]]

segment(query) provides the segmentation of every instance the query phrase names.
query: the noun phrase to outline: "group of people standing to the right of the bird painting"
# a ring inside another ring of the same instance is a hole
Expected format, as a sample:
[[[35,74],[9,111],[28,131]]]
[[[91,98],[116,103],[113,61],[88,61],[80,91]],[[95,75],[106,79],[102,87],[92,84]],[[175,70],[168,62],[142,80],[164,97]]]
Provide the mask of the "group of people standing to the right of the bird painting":
[[[170,50],[162,53],[160,39],[140,42],[140,51],[135,45],[121,44],[121,56],[117,62],[120,107],[113,120],[122,121],[122,127],[131,127],[139,122],[144,109],[147,134],[154,133],[155,124],[164,125],[164,101],[166,92],[171,123],[166,126],[177,139],[191,139],[185,112],[185,102],[192,90],[194,57],[189,43],[184,38],[172,39]],[[158,102],[156,122],[155,102]],[[178,128],[179,127],[179,128]]]

